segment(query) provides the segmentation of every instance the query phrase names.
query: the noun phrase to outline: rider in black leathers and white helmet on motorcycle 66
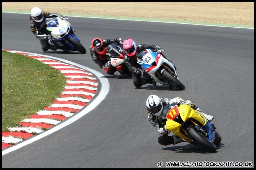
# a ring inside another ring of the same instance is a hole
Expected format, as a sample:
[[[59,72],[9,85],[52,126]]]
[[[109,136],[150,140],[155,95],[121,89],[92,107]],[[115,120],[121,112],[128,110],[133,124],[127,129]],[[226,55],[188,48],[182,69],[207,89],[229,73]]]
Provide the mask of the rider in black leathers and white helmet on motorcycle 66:
[[[57,50],[56,47],[48,43],[48,35],[46,34],[46,18],[50,17],[60,17],[65,19],[60,13],[50,13],[44,12],[38,7],[34,7],[30,14],[30,29],[36,38],[40,40],[42,45],[42,50],[47,51],[48,49]]]

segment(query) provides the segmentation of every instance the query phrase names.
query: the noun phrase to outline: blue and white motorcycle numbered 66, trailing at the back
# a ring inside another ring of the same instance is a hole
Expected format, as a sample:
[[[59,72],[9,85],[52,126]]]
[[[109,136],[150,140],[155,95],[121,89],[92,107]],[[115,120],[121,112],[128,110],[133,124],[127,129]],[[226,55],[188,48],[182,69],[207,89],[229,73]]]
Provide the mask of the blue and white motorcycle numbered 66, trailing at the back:
[[[48,43],[50,45],[55,45],[57,49],[61,49],[65,52],[79,51],[80,53],[85,54],[85,47],[80,43],[71,24],[66,21],[66,19],[68,18],[46,18],[46,32],[49,35]]]

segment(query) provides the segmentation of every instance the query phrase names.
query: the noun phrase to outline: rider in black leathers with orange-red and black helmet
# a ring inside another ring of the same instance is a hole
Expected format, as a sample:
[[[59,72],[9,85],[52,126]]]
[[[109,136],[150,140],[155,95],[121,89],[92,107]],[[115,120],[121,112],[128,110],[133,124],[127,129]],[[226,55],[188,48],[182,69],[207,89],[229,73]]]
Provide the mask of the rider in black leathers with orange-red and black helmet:
[[[98,66],[100,66],[102,70],[105,70],[106,73],[109,75],[114,75],[114,73],[117,71],[117,69],[111,65],[106,55],[107,46],[112,44],[113,42],[117,42],[117,44],[119,45],[123,44],[122,38],[116,38],[116,39],[108,38],[104,40],[100,38],[95,38],[91,41],[91,45],[89,47],[92,60]]]

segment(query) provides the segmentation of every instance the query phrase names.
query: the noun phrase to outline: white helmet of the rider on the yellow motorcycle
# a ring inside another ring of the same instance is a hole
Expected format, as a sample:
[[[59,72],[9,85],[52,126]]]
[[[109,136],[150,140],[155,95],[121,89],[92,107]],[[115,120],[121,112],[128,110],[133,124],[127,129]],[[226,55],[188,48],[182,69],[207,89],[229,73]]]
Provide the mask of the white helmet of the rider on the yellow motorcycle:
[[[146,105],[152,114],[156,116],[161,115],[163,106],[162,101],[158,96],[150,95],[146,101]]]

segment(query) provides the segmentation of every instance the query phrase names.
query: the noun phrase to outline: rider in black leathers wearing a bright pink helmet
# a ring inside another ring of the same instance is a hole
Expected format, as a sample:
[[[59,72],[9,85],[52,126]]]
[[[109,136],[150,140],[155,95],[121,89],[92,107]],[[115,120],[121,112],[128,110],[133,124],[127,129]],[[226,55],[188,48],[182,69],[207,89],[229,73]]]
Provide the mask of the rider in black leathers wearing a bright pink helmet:
[[[153,84],[156,85],[156,81],[151,78],[149,74],[143,71],[141,66],[137,63],[137,57],[139,53],[145,49],[151,49],[153,51],[159,51],[161,50],[160,47],[155,45],[146,45],[146,44],[140,44],[137,45],[133,41],[133,39],[127,39],[123,43],[123,48],[125,51],[124,54],[124,63],[129,68],[130,72],[132,72],[132,79],[133,84],[136,88],[139,88],[145,84]],[[166,58],[162,53],[161,55]],[[143,74],[143,76],[142,76]]]

